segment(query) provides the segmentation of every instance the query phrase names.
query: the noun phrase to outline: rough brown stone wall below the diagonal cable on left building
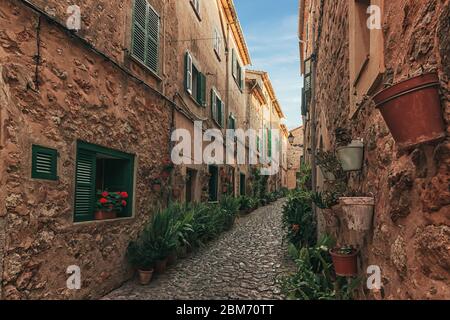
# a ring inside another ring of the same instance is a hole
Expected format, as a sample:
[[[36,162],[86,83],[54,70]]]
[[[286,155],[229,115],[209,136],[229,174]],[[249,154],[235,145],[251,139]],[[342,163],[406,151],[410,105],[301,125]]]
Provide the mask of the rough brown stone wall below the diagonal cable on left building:
[[[149,180],[169,154],[171,108],[44,18],[37,88],[37,21],[20,1],[0,4],[2,298],[97,298],[131,276],[126,246],[159,205]],[[78,139],[137,155],[134,218],[73,223]],[[31,179],[34,143],[58,150],[58,181]],[[81,290],[66,288],[69,265]]]

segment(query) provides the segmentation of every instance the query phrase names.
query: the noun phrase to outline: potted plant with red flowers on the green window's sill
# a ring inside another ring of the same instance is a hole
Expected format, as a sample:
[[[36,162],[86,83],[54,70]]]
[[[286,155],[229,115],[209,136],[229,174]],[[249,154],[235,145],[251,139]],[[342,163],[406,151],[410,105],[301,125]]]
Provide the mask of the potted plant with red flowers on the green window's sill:
[[[109,192],[98,191],[95,220],[107,220],[117,218],[117,214],[127,206],[128,193],[125,191]]]

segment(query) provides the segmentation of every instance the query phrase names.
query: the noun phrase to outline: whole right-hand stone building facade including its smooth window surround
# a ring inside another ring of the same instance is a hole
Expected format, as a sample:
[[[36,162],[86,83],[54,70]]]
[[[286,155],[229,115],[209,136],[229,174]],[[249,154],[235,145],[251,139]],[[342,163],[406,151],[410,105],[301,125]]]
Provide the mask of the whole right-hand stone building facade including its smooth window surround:
[[[381,28],[365,30],[369,5],[380,9]],[[316,70],[304,106],[305,148],[315,136],[318,149],[335,150],[337,128],[365,144],[363,169],[350,174],[349,187],[375,198],[360,270],[379,266],[382,290],[363,298],[448,299],[450,2],[305,0],[300,6],[302,61],[313,56]],[[447,138],[400,150],[372,97],[386,84],[431,71],[440,80]]]

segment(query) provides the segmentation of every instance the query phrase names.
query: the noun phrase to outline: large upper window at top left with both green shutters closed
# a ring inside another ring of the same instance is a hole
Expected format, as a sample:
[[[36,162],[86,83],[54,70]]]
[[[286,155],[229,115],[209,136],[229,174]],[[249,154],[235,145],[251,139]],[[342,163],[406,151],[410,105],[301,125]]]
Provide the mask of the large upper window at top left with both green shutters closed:
[[[131,53],[155,73],[159,71],[159,24],[159,15],[147,0],[134,0]]]

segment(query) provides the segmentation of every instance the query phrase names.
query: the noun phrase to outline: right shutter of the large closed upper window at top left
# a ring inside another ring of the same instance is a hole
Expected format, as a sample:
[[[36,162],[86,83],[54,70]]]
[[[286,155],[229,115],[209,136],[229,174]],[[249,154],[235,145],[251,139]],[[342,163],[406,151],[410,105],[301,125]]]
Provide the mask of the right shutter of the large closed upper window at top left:
[[[158,72],[159,16],[150,6],[147,9],[147,56],[145,64],[154,72]]]

